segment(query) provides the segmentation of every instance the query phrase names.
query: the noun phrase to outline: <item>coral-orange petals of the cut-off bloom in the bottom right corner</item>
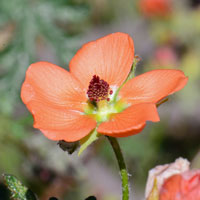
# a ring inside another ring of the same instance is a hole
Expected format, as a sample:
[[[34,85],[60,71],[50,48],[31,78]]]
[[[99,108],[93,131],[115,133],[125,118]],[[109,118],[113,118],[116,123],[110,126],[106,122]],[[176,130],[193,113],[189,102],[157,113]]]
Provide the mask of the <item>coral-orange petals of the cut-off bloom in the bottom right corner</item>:
[[[168,178],[161,190],[160,200],[200,200],[200,170],[191,170]]]

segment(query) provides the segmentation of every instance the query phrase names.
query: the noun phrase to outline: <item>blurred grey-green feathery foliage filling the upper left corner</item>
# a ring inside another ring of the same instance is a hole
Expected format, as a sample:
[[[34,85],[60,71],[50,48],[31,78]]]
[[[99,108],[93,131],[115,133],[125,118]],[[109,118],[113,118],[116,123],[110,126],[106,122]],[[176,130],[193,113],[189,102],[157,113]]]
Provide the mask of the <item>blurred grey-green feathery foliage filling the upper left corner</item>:
[[[25,71],[41,59],[44,46],[46,51],[48,47],[54,50],[48,57],[55,55],[53,60],[58,59],[58,64],[71,59],[76,45],[74,34],[81,31],[87,12],[86,6],[65,0],[0,1],[1,112],[12,113]],[[79,29],[74,30],[74,25]]]

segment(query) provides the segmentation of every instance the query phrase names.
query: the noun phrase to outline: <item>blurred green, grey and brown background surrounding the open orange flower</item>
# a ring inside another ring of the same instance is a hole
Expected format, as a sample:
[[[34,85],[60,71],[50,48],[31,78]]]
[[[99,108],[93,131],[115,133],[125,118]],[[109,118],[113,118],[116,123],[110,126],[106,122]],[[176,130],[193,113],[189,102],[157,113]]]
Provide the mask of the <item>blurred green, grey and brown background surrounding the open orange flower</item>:
[[[20,99],[28,66],[40,60],[64,68],[86,42],[126,32],[142,60],[136,74],[181,69],[187,86],[159,107],[161,121],[121,138],[134,199],[144,199],[148,170],[177,157],[200,168],[199,0],[1,0],[0,1],[0,174],[17,176],[41,200],[119,200],[118,166],[105,138],[81,157],[32,128]],[[0,199],[9,199],[0,178]],[[131,197],[133,199],[133,196]]]

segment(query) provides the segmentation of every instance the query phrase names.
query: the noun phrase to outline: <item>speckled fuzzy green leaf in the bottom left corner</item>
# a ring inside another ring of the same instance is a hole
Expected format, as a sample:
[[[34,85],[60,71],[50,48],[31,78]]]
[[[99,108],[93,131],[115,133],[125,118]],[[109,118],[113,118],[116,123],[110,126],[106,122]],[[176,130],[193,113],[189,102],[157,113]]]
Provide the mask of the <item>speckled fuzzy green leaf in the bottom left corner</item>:
[[[37,200],[35,194],[24,186],[15,176],[3,174],[3,180],[11,191],[14,200]]]

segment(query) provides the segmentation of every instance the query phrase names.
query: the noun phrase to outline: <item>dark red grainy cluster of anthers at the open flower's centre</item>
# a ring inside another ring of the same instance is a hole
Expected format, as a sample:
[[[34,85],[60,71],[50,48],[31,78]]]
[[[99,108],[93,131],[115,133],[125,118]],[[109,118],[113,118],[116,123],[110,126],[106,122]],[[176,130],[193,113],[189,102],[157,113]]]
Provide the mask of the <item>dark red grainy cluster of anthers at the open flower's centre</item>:
[[[90,101],[93,102],[99,102],[101,100],[109,101],[110,99],[108,98],[108,95],[112,93],[113,91],[110,90],[110,86],[106,81],[100,79],[100,77],[97,75],[93,76],[87,90],[87,95]]]

